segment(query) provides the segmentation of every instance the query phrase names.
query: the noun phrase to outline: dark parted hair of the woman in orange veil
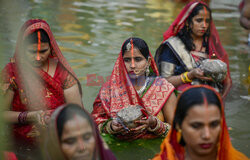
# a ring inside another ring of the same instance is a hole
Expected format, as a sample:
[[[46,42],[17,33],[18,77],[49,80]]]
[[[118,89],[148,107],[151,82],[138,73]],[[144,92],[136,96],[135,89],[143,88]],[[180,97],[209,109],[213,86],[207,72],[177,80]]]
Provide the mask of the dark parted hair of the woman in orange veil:
[[[215,105],[219,108],[221,112],[221,102],[216,93],[205,87],[190,88],[185,91],[178,99],[173,127],[177,130],[176,125],[182,125],[187,112],[195,105]],[[180,142],[181,145],[185,145],[183,138]]]

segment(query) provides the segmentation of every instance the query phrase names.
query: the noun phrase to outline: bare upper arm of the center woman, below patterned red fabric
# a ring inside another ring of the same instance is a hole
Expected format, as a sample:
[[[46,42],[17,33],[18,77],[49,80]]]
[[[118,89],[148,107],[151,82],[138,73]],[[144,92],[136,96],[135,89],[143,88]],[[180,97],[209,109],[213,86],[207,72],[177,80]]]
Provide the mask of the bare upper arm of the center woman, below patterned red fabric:
[[[162,108],[164,119],[167,123],[172,124],[174,119],[176,106],[176,96],[174,92],[171,93],[164,107]]]

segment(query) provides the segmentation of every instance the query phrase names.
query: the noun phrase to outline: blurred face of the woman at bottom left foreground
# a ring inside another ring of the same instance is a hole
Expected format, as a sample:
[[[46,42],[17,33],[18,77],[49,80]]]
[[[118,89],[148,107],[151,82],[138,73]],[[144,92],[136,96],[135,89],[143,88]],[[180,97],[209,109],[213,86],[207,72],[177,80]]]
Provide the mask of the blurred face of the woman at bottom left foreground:
[[[67,160],[92,160],[95,137],[87,119],[76,115],[68,120],[61,137],[61,148]]]

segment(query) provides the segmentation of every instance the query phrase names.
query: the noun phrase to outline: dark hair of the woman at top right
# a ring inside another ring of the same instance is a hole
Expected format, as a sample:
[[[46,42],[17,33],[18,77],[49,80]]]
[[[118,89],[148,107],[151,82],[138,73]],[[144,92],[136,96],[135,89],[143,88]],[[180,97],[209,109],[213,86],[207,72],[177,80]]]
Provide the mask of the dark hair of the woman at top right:
[[[192,25],[193,21],[192,19],[194,18],[194,16],[199,14],[200,10],[203,10],[204,7],[207,9],[207,11],[209,12],[210,15],[210,22],[212,19],[212,15],[211,15],[211,9],[208,8],[208,6],[199,3],[191,12],[191,14],[188,16],[187,20],[186,20],[186,24],[184,25],[184,27],[177,33],[177,36],[181,39],[181,41],[185,44],[185,47],[188,51],[192,51],[195,49],[195,45],[193,43],[193,38],[191,36],[192,30],[190,28],[190,26]],[[209,24],[210,26],[210,24]],[[210,27],[208,27],[208,30],[206,31],[206,33],[203,35],[203,43],[202,46],[206,47],[206,53],[209,52],[209,46],[208,46],[208,37],[210,35]]]

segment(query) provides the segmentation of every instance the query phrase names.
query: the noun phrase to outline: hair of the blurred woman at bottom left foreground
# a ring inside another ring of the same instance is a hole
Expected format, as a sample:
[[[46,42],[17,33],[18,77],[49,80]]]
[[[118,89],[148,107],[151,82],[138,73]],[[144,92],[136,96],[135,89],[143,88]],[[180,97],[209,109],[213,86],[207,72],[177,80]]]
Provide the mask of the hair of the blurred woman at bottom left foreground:
[[[91,127],[93,128],[94,122],[92,118],[90,117],[89,113],[87,111],[83,110],[79,105],[77,104],[67,104],[62,111],[59,113],[56,124],[57,124],[57,133],[59,139],[62,137],[63,133],[63,127],[65,123],[71,119],[74,118],[74,116],[79,115],[83,117],[84,119],[87,119]]]

